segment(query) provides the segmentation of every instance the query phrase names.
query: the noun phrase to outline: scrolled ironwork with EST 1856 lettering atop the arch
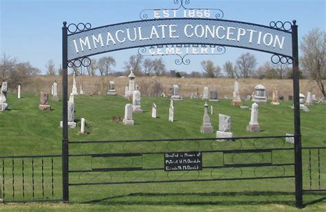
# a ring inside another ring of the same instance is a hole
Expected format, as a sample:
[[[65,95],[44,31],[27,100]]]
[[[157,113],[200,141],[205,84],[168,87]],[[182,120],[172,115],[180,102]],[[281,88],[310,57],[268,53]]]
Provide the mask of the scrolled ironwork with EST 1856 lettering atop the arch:
[[[169,9],[144,9],[140,11],[139,17],[142,20],[147,20],[149,18],[149,14],[147,12],[155,12],[160,10],[169,10],[170,12],[177,12],[178,10],[182,9],[184,12],[182,14],[182,18],[202,18],[202,19],[209,19],[210,18],[210,11],[213,12],[213,16],[215,19],[223,19],[224,12],[221,9],[214,9],[214,8],[186,8],[186,5],[190,4],[190,0],[174,0],[175,5],[179,5],[178,8],[169,8]],[[186,12],[192,11],[191,14],[187,14]],[[195,14],[195,11],[201,11],[199,14]],[[209,12],[205,14],[205,12]],[[176,16],[174,17],[176,18]],[[163,18],[164,19],[164,18]]]

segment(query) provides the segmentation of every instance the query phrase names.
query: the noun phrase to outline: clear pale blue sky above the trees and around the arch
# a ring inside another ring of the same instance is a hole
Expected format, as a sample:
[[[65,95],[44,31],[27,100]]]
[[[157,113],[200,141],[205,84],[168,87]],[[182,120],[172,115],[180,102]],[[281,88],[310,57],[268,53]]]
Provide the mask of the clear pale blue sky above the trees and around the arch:
[[[0,0],[1,56],[6,54],[19,62],[30,62],[45,74],[47,61],[54,60],[57,69],[61,65],[63,21],[68,24],[91,23],[92,27],[100,27],[138,21],[144,9],[177,7],[173,0]],[[325,0],[191,0],[186,7],[216,8],[224,12],[223,19],[260,25],[269,25],[270,21],[292,22],[295,19],[299,43],[316,27],[326,30]],[[191,60],[188,65],[176,65],[176,56],[163,56],[162,59],[167,70],[191,73],[203,71],[202,60],[212,60],[222,67],[226,61],[235,63],[246,52],[256,56],[257,67],[270,61],[270,54],[232,47],[227,47],[226,53],[219,56],[187,56]],[[113,56],[116,59],[113,71],[124,71],[124,62],[137,53],[138,48],[113,51],[94,58]]]

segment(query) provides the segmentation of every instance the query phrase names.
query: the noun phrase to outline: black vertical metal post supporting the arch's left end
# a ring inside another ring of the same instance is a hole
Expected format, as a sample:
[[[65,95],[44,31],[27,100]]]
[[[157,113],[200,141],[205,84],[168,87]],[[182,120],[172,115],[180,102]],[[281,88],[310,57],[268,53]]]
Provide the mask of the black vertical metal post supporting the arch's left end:
[[[68,27],[63,22],[63,147],[62,147],[62,171],[63,171],[63,202],[69,202],[69,151],[68,151]]]

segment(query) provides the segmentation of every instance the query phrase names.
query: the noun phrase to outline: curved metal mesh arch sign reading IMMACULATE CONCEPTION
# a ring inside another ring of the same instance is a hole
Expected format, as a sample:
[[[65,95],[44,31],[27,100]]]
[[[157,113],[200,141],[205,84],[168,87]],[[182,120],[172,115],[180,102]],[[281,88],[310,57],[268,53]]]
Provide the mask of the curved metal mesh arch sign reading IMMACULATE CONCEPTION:
[[[157,45],[217,45],[264,51],[292,58],[292,32],[287,29],[220,19],[149,19],[89,28],[68,34],[68,60],[110,51]],[[90,25],[89,25],[90,26]],[[76,27],[75,31],[78,31]],[[209,51],[210,49],[208,49]],[[177,54],[173,51],[173,54]],[[204,51],[204,54],[207,51]],[[153,54],[153,52],[150,52]]]

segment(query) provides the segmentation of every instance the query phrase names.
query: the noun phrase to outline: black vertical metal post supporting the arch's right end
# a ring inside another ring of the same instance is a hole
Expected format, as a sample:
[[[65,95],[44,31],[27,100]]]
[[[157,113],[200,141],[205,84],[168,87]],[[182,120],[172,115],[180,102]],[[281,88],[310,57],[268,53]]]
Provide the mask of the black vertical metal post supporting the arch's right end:
[[[294,172],[296,183],[296,207],[303,208],[303,182],[302,182],[302,150],[301,150],[301,123],[299,99],[299,69],[298,69],[298,25],[292,24],[292,67],[293,67],[293,101],[294,101]]]

